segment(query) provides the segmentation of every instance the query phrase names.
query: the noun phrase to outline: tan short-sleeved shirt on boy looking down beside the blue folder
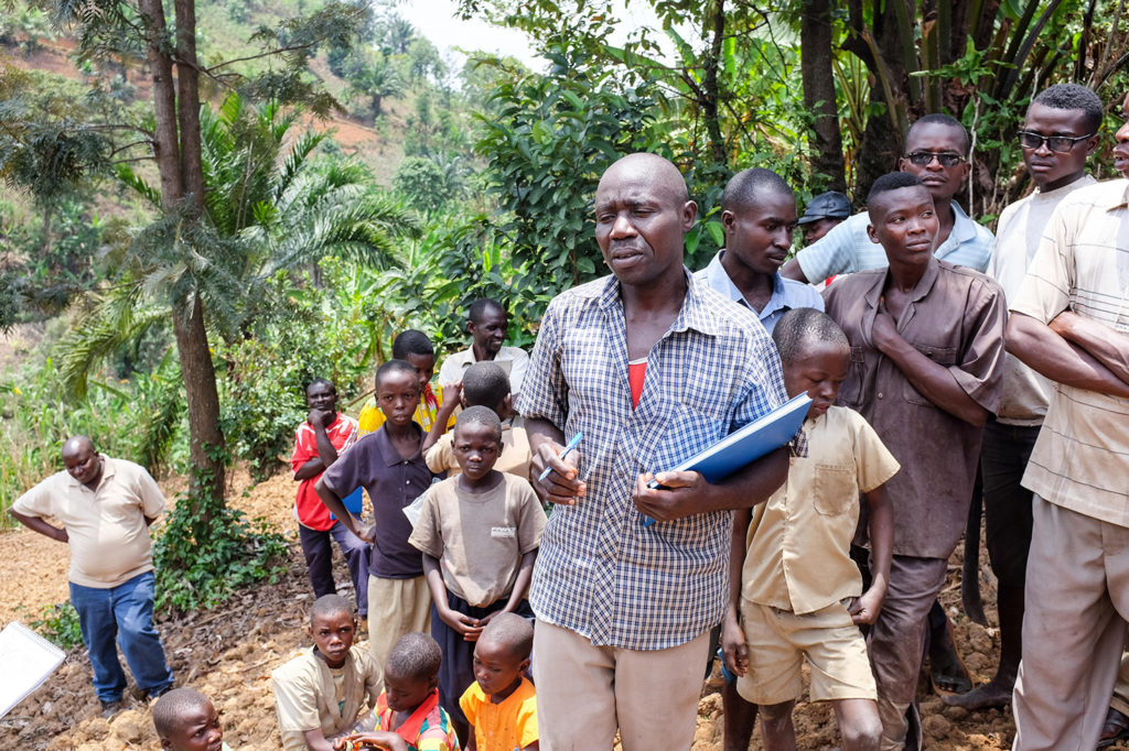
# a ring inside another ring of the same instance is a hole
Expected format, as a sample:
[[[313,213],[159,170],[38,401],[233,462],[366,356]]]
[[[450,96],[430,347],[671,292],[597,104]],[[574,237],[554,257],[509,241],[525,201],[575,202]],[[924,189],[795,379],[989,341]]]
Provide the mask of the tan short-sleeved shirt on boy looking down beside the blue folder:
[[[807,456],[756,506],[749,525],[741,597],[797,615],[863,593],[850,541],[859,493],[898,471],[898,461],[863,416],[846,407],[804,423]]]

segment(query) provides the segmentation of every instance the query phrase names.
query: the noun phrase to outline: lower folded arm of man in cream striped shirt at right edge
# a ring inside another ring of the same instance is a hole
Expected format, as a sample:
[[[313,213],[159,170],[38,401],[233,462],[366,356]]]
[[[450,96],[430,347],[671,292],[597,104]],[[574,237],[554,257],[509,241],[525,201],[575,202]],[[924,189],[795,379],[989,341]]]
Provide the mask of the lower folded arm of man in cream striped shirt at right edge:
[[[1057,319],[1056,319],[1057,320]],[[1042,321],[1013,312],[1007,321],[1007,351],[1052,381],[1109,396],[1129,398],[1129,383]]]

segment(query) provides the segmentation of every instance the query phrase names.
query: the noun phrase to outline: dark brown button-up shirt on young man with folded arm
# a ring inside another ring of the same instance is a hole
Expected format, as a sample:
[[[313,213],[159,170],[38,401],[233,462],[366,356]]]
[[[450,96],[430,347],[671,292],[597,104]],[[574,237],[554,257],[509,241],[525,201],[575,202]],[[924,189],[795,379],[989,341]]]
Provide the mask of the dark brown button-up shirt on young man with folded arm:
[[[933,404],[870,344],[887,273],[852,274],[823,292],[828,315],[851,345],[839,404],[857,409],[902,466],[887,485],[894,554],[947,558],[964,531],[983,431]],[[995,413],[1006,316],[999,284],[934,258],[895,325],[909,344],[947,368],[973,401]]]

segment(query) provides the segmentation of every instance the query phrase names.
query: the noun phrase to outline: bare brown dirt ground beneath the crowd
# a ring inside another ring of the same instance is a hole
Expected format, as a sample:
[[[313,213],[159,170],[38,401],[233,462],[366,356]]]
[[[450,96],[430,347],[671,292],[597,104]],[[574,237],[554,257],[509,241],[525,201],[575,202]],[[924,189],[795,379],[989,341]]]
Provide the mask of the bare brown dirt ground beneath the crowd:
[[[263,516],[277,529],[295,538],[290,516],[294,481],[280,472],[265,483],[248,488],[246,474],[237,472],[229,497],[251,516]],[[175,484],[167,488],[173,494]],[[0,534],[0,624],[11,619],[25,622],[36,618],[46,604],[67,600],[67,550],[46,538],[12,531]],[[986,556],[981,557],[987,569]],[[987,681],[999,655],[995,628],[983,628],[960,612],[960,551],[951,562],[949,583],[942,595],[956,624],[957,645],[978,682]],[[291,657],[306,644],[303,611],[310,591],[305,578],[297,541],[290,550],[288,573],[277,584],[246,591],[222,609],[194,613],[159,624],[177,684],[192,686],[212,698],[222,713],[225,740],[236,751],[278,749],[280,745],[274,704],[271,696],[271,670]],[[990,574],[984,576],[984,604],[995,601]],[[339,587],[348,591],[349,576],[338,560]],[[721,704],[715,674],[703,688],[698,710],[698,731],[693,751],[720,751]],[[981,751],[1009,749],[1014,736],[1010,709],[968,713],[944,707],[931,693],[921,696],[921,714],[927,749]],[[834,717],[824,706],[802,701],[796,710],[796,731],[800,749],[832,749],[838,745]],[[145,704],[134,701],[129,710],[110,722],[100,717],[97,698],[90,686],[90,666],[85,650],[71,651],[59,671],[32,696],[0,719],[0,748],[90,749],[110,751],[145,749],[157,751],[159,744]],[[751,749],[762,748],[759,733]]]

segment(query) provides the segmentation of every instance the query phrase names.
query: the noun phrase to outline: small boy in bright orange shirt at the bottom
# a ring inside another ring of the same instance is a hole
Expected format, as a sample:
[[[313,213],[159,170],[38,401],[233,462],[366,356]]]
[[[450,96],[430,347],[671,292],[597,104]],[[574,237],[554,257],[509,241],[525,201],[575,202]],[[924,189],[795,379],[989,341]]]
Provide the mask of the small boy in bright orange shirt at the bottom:
[[[533,651],[533,625],[500,612],[474,647],[474,679],[458,700],[471,724],[467,751],[536,751],[537,693],[525,677]]]

